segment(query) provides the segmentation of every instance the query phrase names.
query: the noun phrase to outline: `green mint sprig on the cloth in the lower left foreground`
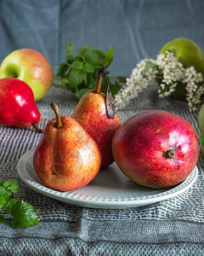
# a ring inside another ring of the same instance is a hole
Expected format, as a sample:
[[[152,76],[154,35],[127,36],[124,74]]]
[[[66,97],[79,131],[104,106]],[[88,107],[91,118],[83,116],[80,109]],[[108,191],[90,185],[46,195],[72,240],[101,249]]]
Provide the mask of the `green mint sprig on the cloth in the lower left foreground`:
[[[0,181],[0,223],[4,221],[4,214],[13,216],[12,228],[28,228],[40,221],[38,211],[26,201],[14,199],[14,193],[19,191],[19,183],[15,179]]]

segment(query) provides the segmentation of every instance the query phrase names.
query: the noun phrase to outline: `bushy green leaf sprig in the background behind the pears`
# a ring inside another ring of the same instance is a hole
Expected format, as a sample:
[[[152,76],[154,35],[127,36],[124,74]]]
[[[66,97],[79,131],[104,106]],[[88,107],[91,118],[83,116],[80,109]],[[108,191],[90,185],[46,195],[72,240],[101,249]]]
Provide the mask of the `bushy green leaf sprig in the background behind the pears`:
[[[76,51],[77,55],[72,52]],[[54,76],[54,85],[66,90],[71,90],[78,98],[81,98],[88,90],[93,90],[97,81],[97,72],[99,68],[109,67],[113,61],[114,50],[110,45],[110,49],[106,53],[99,49],[91,49],[85,46],[78,50],[73,50],[71,43],[66,47],[66,61],[61,63],[59,71]],[[121,89],[121,84],[116,80],[111,83],[111,79],[106,75],[111,87],[111,93],[116,95]],[[123,82],[122,77],[118,77],[119,82]],[[101,91],[106,91],[107,84],[105,81],[101,84]]]

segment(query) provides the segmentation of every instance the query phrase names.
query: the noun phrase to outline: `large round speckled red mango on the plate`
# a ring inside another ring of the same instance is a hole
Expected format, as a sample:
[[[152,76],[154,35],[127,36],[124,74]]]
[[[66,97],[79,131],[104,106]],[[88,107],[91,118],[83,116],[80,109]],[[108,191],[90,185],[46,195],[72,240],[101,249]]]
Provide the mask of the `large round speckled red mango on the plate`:
[[[163,154],[175,149],[175,157]],[[138,113],[128,119],[112,140],[112,151],[122,172],[150,188],[166,188],[190,175],[198,159],[194,128],[182,117],[161,110]]]

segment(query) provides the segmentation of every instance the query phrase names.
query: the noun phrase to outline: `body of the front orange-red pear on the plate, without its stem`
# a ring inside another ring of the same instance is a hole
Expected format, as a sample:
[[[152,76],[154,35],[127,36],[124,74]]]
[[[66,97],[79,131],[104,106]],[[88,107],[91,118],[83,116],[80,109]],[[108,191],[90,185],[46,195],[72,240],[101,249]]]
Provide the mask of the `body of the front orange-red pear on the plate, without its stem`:
[[[42,141],[33,155],[37,176],[49,188],[71,191],[90,183],[99,172],[100,152],[93,138],[70,117],[61,117],[46,125]]]

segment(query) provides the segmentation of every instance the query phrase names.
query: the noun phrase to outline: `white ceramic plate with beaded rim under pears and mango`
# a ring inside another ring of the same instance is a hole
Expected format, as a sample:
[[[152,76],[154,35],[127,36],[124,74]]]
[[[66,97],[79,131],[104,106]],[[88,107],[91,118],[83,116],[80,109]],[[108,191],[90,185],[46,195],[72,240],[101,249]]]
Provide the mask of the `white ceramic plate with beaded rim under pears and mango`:
[[[37,177],[32,164],[34,151],[35,148],[29,150],[18,162],[17,171],[22,181],[42,195],[82,207],[113,209],[141,207],[167,200],[189,189],[195,183],[198,172],[195,166],[183,183],[168,189],[149,189],[133,183],[114,163],[101,170],[94,180],[82,189],[60,192],[49,189]]]

